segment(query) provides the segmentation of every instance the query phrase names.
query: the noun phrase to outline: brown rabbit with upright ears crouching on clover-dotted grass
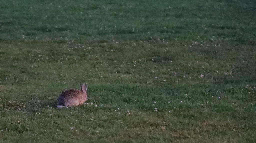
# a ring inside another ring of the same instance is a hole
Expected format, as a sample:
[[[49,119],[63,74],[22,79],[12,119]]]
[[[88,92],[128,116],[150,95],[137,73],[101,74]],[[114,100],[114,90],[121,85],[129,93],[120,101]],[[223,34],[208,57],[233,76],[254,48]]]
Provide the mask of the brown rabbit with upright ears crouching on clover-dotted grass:
[[[78,106],[87,100],[87,84],[81,84],[81,89],[67,89],[63,91],[58,100],[58,108]]]

